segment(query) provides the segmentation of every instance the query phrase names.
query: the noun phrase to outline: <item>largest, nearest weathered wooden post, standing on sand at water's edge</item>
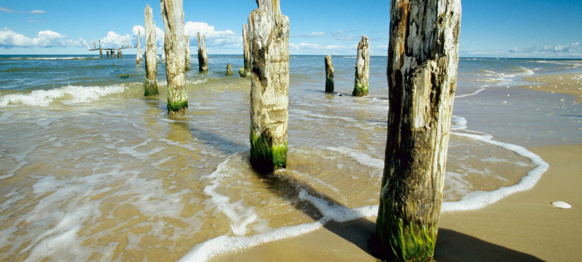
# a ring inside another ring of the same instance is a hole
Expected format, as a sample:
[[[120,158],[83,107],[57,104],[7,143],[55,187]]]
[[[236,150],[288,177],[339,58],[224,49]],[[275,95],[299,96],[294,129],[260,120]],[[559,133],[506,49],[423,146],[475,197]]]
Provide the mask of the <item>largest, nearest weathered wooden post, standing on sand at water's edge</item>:
[[[388,141],[377,233],[386,261],[434,254],[459,61],[460,0],[392,0]]]

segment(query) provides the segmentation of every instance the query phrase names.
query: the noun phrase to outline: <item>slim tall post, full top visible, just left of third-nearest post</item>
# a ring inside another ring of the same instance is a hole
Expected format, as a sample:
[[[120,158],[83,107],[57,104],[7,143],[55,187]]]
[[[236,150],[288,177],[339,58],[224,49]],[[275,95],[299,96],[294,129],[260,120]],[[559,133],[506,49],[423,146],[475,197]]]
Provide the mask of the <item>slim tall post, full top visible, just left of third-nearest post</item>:
[[[158,94],[158,45],[155,43],[155,22],[150,5],[145,5],[145,84],[144,95]]]

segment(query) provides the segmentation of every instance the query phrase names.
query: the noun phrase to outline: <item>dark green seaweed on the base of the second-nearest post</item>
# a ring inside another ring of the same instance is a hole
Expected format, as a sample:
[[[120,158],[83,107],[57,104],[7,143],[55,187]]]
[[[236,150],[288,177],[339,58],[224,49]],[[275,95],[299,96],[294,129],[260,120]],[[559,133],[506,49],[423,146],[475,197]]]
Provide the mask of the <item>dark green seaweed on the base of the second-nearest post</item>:
[[[250,134],[250,162],[255,171],[267,175],[287,165],[287,141],[274,145],[272,137],[266,132],[257,136],[252,130]]]

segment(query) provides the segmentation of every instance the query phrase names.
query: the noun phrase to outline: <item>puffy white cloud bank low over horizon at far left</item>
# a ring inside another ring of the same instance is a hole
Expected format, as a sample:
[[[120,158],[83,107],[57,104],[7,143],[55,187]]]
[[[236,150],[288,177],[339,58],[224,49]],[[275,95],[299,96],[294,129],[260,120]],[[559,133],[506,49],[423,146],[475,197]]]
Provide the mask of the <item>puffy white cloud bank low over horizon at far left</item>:
[[[8,29],[0,30],[0,47],[79,47],[80,41],[67,39],[67,36],[51,30],[40,31],[37,37],[29,38]]]

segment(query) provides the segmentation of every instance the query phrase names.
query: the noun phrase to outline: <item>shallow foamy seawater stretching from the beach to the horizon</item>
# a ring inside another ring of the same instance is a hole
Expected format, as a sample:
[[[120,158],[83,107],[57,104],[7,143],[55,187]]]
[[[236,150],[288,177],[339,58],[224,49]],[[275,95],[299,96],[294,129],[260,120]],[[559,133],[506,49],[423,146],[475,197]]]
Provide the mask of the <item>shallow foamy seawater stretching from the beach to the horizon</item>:
[[[193,57],[178,118],[163,63],[160,95],[143,97],[133,55],[1,55],[0,259],[206,261],[375,215],[386,57],[371,58],[367,97],[351,95],[355,60],[332,56],[337,94],[325,94],[324,56],[291,56],[288,168],[263,177],[248,161],[250,80],[225,76],[241,55],[210,55],[204,74]],[[548,164],[524,147],[580,143],[574,98],[516,87],[580,72],[575,60],[460,59],[445,211],[535,185]]]

